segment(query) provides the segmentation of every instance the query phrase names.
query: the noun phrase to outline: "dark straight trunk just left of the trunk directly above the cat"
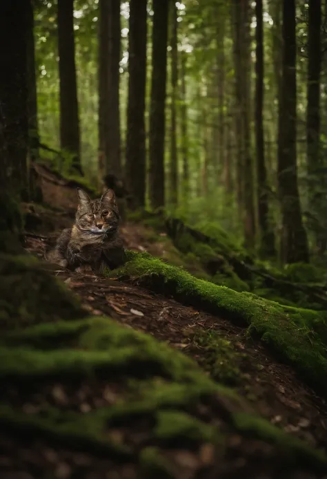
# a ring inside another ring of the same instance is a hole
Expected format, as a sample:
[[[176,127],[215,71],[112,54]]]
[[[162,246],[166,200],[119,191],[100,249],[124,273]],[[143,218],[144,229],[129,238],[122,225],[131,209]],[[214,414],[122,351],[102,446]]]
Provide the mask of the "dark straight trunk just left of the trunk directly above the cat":
[[[74,0],[58,0],[60,144],[72,156],[72,171],[83,174],[75,66]]]

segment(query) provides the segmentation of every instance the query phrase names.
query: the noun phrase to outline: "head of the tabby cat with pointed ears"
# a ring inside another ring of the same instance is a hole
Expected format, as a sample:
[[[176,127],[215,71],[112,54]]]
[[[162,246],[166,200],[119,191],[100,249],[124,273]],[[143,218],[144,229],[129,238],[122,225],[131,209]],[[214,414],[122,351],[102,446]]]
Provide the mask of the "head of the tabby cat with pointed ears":
[[[95,235],[115,232],[119,225],[119,212],[115,192],[108,189],[99,200],[91,200],[83,189],[78,188],[79,205],[75,225],[83,232]]]

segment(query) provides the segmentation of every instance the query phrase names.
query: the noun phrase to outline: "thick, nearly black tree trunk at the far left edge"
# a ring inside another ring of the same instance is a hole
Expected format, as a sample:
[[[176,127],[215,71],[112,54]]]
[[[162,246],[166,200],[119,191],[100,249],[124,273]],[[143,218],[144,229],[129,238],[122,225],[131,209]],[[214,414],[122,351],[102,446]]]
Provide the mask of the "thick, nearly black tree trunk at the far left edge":
[[[1,2],[0,157],[5,176],[1,185],[23,200],[28,200],[27,18],[27,2]]]

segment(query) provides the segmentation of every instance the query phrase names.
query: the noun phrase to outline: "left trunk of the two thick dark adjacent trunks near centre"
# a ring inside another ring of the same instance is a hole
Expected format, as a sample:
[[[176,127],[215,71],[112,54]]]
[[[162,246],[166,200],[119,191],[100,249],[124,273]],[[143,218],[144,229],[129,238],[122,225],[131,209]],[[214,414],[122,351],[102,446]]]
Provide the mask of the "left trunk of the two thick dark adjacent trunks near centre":
[[[126,182],[137,207],[146,203],[147,0],[130,0]]]

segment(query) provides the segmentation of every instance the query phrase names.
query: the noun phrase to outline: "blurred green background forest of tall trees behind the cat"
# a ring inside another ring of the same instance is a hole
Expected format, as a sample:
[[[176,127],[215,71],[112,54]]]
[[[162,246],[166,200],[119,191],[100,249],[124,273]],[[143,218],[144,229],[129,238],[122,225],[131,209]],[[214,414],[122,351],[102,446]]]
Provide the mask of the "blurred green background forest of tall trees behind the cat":
[[[115,174],[135,207],[217,223],[264,258],[324,254],[326,11],[326,0],[31,1],[30,158],[92,185]]]

